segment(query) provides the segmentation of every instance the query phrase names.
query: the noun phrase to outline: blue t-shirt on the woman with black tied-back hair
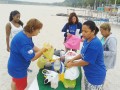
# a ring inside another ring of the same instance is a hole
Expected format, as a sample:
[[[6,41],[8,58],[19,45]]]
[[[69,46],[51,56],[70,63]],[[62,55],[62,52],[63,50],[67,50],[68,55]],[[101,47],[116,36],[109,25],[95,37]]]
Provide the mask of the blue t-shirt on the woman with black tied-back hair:
[[[82,59],[89,63],[83,67],[88,82],[93,85],[103,84],[106,76],[106,69],[103,59],[103,47],[100,40],[97,37],[90,42],[85,40],[81,54]]]

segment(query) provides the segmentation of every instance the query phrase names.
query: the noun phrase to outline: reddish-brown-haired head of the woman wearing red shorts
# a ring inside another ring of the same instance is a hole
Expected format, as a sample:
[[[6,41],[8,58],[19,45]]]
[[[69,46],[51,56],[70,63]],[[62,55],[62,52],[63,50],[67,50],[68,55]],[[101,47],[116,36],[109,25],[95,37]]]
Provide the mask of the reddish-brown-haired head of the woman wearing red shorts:
[[[32,36],[36,36],[40,32],[42,26],[43,24],[38,19],[32,18],[27,22],[24,31]]]

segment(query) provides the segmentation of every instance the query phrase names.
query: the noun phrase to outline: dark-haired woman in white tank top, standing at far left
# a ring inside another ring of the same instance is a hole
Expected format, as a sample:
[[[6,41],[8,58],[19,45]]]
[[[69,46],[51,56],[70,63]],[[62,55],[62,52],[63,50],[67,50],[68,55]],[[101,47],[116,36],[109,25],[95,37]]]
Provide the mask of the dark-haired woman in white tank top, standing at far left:
[[[7,51],[10,51],[10,41],[21,30],[23,30],[23,22],[20,20],[20,12],[14,10],[10,13],[9,22],[6,24],[6,44]]]

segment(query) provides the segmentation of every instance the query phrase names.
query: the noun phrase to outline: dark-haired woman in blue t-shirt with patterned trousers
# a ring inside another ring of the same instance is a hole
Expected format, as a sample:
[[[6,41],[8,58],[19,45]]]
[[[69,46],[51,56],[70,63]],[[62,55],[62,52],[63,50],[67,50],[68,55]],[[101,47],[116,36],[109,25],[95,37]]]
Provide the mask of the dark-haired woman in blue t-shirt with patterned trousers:
[[[93,21],[83,23],[82,35],[85,40],[81,54],[77,55],[66,64],[69,68],[72,66],[83,66],[85,90],[103,90],[106,68],[103,59],[103,47],[96,36],[98,31],[99,29]],[[80,61],[75,62],[77,59],[80,59]]]

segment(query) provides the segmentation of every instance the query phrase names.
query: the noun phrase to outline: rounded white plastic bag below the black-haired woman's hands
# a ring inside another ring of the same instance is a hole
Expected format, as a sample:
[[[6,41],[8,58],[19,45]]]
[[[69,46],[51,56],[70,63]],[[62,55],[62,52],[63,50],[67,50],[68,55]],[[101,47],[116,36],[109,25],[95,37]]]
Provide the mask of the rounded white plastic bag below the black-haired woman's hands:
[[[71,67],[71,68],[68,68],[66,71],[65,71],[65,79],[69,79],[69,80],[75,80],[79,77],[79,69],[78,67]]]

